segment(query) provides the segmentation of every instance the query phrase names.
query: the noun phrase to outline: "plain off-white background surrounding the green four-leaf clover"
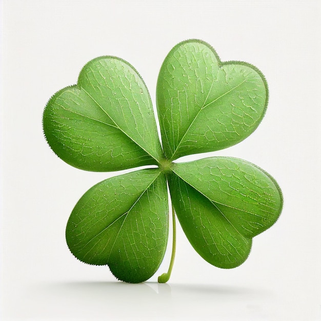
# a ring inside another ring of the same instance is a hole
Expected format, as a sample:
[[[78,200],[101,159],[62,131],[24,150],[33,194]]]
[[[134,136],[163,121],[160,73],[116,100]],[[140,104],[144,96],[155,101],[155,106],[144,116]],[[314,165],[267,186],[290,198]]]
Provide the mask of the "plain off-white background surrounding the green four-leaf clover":
[[[320,320],[320,4],[4,1],[3,319]],[[154,102],[163,59],[188,38],[210,43],[222,61],[246,61],[265,74],[270,100],[262,124],[244,142],[211,155],[244,158],[268,171],[283,190],[284,210],[236,269],[206,263],[179,228],[170,282],[155,283],[167,271],[167,253],[150,282],[127,285],[108,267],[76,260],[65,242],[78,198],[115,173],[77,170],[56,157],[43,136],[42,112],[52,94],[101,55],[130,62]]]

